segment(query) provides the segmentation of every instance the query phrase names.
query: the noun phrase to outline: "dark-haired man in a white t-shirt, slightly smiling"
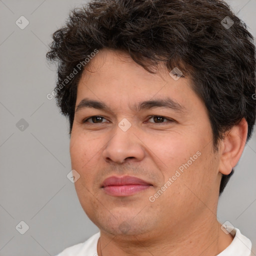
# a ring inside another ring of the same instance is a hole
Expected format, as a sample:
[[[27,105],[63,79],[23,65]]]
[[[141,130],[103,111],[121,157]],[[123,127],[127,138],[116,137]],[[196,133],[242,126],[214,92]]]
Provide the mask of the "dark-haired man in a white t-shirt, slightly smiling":
[[[220,0],[93,0],[47,53],[100,232],[59,256],[247,256],[218,196],[255,122],[255,47]]]

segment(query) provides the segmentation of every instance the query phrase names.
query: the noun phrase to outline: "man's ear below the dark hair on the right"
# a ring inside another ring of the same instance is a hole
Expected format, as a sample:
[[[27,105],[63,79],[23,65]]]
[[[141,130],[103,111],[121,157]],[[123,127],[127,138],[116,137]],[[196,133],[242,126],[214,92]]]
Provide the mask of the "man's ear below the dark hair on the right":
[[[219,172],[229,174],[242,155],[248,132],[245,118],[234,125],[221,140]]]

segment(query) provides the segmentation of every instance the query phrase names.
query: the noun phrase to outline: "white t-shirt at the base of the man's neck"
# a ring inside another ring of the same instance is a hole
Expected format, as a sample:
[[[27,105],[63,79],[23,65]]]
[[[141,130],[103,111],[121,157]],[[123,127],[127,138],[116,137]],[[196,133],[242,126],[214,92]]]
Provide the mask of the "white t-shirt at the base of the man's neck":
[[[228,228],[229,227],[227,227],[227,230]],[[234,237],[232,242],[217,256],[250,256],[251,241],[242,235],[237,228],[233,228],[230,234]],[[97,242],[99,236],[100,232],[92,235],[85,242],[64,249],[56,256],[98,256]]]

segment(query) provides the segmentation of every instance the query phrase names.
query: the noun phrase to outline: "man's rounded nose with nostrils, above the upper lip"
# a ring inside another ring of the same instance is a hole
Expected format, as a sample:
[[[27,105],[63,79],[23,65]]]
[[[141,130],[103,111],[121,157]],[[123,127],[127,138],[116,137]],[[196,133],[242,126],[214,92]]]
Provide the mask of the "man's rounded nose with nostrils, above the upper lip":
[[[105,161],[124,163],[125,161],[141,161],[145,156],[143,143],[139,135],[129,128],[123,131],[118,126],[114,130],[112,138],[107,142],[102,152]]]

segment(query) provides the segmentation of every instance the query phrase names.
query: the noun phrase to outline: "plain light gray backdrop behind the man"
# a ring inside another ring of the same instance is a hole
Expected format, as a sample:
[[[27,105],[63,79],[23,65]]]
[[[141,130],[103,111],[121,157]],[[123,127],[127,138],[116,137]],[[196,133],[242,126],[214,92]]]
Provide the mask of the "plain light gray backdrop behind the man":
[[[55,67],[45,60],[50,35],[64,24],[69,9],[84,2],[0,0],[0,256],[55,255],[98,231],[66,177],[71,170],[67,120],[55,100],[46,98],[56,79]],[[256,0],[229,3],[255,36]],[[15,24],[21,15],[29,21],[24,29]],[[21,118],[28,124],[23,130],[16,127]],[[253,255],[255,134],[220,198],[217,214],[251,239]],[[23,235],[15,229],[21,220],[29,226]]]

